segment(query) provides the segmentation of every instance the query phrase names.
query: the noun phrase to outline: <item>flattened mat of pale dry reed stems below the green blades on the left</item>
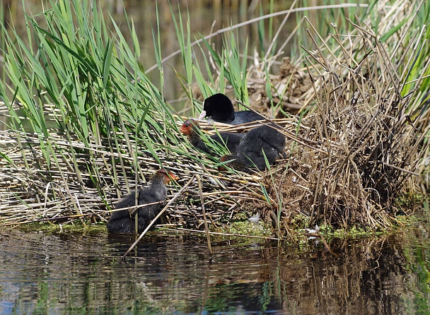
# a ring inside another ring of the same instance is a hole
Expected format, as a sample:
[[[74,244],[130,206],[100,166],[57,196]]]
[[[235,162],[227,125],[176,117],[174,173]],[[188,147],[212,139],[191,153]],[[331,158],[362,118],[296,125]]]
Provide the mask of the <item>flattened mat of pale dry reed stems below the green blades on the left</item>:
[[[178,125],[182,124],[183,119],[185,117],[178,117]],[[289,124],[294,128],[292,119],[278,119],[277,123],[284,126]],[[219,131],[226,128],[226,125],[219,124]],[[214,132],[213,126],[207,125],[202,129],[212,129]],[[182,137],[180,134],[177,136]],[[2,225],[42,221],[62,223],[80,221],[82,218],[85,219],[82,222],[88,222],[88,219],[93,222],[104,221],[119,200],[118,191],[121,196],[134,189],[129,183],[130,179],[127,180],[134,177],[133,158],[128,153],[129,145],[136,148],[134,141],[129,141],[128,145],[119,143],[115,147],[119,150],[106,150],[107,140],[87,148],[77,138],[66,140],[62,133],[50,133],[49,139],[45,141],[50,141],[59,153],[55,157],[55,167],[47,165],[41,153],[39,136],[17,131],[0,132],[1,153],[7,157],[1,160],[0,172]],[[187,146],[186,139],[182,141]],[[139,148],[137,145],[136,150],[139,152],[137,160],[144,178],[150,177],[160,167],[159,162],[145,147]],[[189,147],[187,150],[191,150],[190,154],[205,159],[204,153]],[[75,153],[72,154],[71,151]],[[204,204],[212,224],[228,221],[233,210],[240,206],[240,200],[265,199],[258,191],[257,180],[260,176],[241,174],[229,177],[216,170],[216,163],[207,167],[202,162],[187,159],[181,152],[180,147],[172,145],[167,153],[163,150],[157,153],[163,167],[180,174],[180,181],[170,187],[170,191],[178,189],[180,184],[187,182],[195,174],[205,179]],[[110,164],[110,160],[117,161],[117,164]],[[92,167],[98,167],[97,182],[98,187],[102,187],[101,190],[94,186],[93,174],[88,172],[90,161]],[[114,169],[117,172],[117,182],[112,180]],[[124,174],[119,174],[124,170]],[[199,228],[202,225],[204,221],[200,198],[197,196],[198,189],[197,180],[194,180],[180,201],[170,207],[166,218],[168,223],[187,228]]]

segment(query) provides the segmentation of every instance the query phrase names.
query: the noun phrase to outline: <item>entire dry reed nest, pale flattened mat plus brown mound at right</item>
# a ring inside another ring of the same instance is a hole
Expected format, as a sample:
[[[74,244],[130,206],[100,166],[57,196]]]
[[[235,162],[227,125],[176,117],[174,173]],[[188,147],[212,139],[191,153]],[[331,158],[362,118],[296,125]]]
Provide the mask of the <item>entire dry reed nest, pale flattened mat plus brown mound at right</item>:
[[[119,198],[146,184],[162,166],[181,178],[169,187],[170,198],[186,185],[165,215],[168,225],[202,230],[203,203],[212,227],[231,222],[238,212],[258,212],[273,222],[279,237],[315,224],[389,227],[400,196],[419,182],[417,165],[427,148],[429,111],[421,97],[401,96],[409,68],[398,70],[405,61],[411,66],[414,56],[405,60],[402,54],[393,62],[372,30],[352,24],[353,36],[332,36],[339,47],[336,55],[325,48],[307,50],[308,79],[302,80],[303,70],[292,71],[288,60],[273,78],[276,88],[295,76],[294,89],[306,90],[301,97],[284,93],[296,96],[279,102],[291,104],[294,99],[310,106],[306,116],[274,121],[287,138],[287,158],[266,172],[220,173],[219,157],[197,152],[178,132],[185,117],[169,121],[152,109],[145,109],[139,136],[118,128],[133,123],[120,114],[107,114],[111,130],[91,143],[59,130],[49,136],[4,131],[1,224],[105,222]],[[261,89],[252,88],[260,104],[273,104]],[[272,95],[276,93],[274,89]],[[45,110],[53,117],[58,114],[51,107]],[[103,116],[103,110],[98,114]],[[216,125],[218,131],[247,128]],[[214,132],[211,125],[203,129]],[[149,138],[152,145],[145,141]]]

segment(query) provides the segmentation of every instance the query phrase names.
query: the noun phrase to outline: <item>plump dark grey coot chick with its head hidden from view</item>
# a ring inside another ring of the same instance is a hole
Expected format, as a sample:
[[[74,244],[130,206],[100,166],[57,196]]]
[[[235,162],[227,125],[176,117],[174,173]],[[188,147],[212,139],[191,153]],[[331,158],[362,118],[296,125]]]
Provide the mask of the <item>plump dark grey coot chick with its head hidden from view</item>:
[[[282,133],[269,126],[260,126],[246,133],[238,145],[236,154],[221,157],[221,162],[233,160],[228,165],[236,170],[247,171],[257,167],[262,171],[266,169],[265,157],[269,165],[273,165],[282,155],[284,145],[285,137]]]

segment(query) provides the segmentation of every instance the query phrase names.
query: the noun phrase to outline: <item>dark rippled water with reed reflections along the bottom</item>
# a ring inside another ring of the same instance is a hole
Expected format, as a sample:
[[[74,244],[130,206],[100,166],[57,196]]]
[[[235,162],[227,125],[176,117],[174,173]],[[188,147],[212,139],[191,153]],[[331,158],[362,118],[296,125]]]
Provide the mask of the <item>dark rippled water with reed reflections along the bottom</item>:
[[[211,259],[204,239],[152,235],[122,261],[132,236],[5,232],[0,313],[424,313],[429,242],[399,237],[332,242],[338,256],[236,240]]]

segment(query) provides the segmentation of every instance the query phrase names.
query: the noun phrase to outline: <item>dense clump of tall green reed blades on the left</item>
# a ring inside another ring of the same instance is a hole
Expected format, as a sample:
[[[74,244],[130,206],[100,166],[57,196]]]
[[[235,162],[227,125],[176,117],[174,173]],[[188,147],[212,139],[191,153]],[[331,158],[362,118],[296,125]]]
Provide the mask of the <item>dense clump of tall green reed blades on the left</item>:
[[[49,4],[41,14],[46,28],[41,28],[34,16],[25,14],[28,24],[25,39],[14,30],[9,36],[3,28],[4,71],[11,85],[1,84],[1,97],[11,114],[8,127],[37,134],[44,156],[42,164],[60,173],[62,167],[56,157],[62,150],[57,150],[50,140],[51,133],[64,133],[69,143],[83,143],[89,153],[85,171],[100,196],[104,196],[103,187],[108,183],[100,174],[100,165],[95,163],[91,150],[94,145],[108,146],[112,155],[105,157],[106,166],[118,162],[121,165],[120,170],[108,167],[112,183],[120,182],[118,172],[127,174],[129,165],[135,171],[136,183],[137,179],[145,181],[136,159],[138,148],[143,146],[146,154],[157,160],[160,148],[154,146],[153,139],[166,145],[167,139],[174,138],[172,133],[177,127],[163,94],[148,80],[139,64],[139,42],[133,22],[129,22],[130,47],[115,20],[110,21],[113,29],[107,28],[97,1]],[[37,49],[31,48],[33,42]],[[13,93],[13,99],[8,99],[6,89]],[[15,101],[20,103],[18,108],[13,105]],[[48,109],[46,104],[50,105]],[[21,116],[29,122],[30,130],[24,127]],[[159,119],[166,124],[160,124]],[[126,152],[122,152],[120,143],[126,143]],[[71,146],[69,152],[79,181],[82,180],[82,169],[77,165],[80,151]],[[114,153],[122,154],[116,159]],[[163,164],[159,159],[158,163]],[[67,184],[66,175],[60,175]],[[87,184],[82,182],[81,186]],[[120,194],[120,187],[117,191]]]

